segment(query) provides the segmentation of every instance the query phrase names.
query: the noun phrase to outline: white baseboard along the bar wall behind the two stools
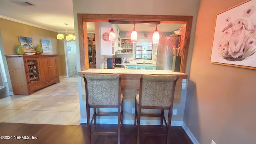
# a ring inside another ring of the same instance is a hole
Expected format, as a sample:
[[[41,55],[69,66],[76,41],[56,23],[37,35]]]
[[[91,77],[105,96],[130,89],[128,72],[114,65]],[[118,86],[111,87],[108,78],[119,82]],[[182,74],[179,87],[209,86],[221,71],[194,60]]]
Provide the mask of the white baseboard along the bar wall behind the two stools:
[[[81,118],[80,123],[87,123],[86,118]],[[98,124],[117,124],[116,119],[99,119],[97,118]],[[182,121],[171,121],[171,126],[182,126]],[[134,120],[123,120],[123,124],[134,124]],[[140,120],[141,125],[159,125],[159,120]]]

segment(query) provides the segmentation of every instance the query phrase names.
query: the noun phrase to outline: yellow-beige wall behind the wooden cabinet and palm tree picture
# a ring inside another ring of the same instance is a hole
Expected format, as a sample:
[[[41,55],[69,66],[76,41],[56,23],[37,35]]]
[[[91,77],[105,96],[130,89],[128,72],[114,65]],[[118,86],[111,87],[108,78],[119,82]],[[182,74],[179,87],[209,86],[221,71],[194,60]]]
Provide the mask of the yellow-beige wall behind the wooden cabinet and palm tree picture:
[[[59,75],[66,75],[64,46],[60,45],[59,41],[56,39],[57,32],[0,18],[0,34],[0,38],[2,38],[1,52],[8,82],[10,82],[10,76],[8,74],[8,66],[4,55],[17,54],[16,46],[19,44],[18,36],[32,38],[34,46],[40,44],[40,40],[50,40],[52,52],[47,54],[58,54]],[[12,92],[10,83],[8,83],[8,86],[10,92]]]

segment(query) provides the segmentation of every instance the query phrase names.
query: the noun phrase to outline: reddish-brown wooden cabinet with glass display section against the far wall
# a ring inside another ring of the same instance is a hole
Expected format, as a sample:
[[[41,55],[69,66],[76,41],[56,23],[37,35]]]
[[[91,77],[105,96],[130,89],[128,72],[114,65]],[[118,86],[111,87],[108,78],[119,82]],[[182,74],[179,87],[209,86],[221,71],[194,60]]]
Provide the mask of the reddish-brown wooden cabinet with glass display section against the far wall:
[[[60,82],[58,55],[6,55],[14,94],[29,95]]]

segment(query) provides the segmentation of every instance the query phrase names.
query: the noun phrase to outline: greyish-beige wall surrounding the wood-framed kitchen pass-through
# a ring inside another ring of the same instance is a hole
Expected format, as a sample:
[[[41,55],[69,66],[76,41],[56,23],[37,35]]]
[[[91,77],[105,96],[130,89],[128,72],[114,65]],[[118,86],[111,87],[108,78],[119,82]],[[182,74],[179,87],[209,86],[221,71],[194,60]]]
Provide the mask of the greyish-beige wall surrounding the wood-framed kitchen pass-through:
[[[192,46],[194,41],[194,32],[196,26],[196,17],[198,13],[199,0],[186,0],[186,3],[178,0],[73,0],[75,33],[78,36],[77,14],[145,14],[145,15],[181,15],[193,16],[192,33],[190,40],[189,58],[187,63],[187,72],[190,70],[190,58],[192,54]],[[79,47],[78,39],[76,47]],[[79,49],[77,49],[79,54]],[[80,71],[80,58],[78,55],[78,71]],[[79,79],[78,79],[79,80]],[[84,80],[79,81],[79,85]],[[80,89],[80,94],[82,90]],[[82,96],[80,96],[82,98]],[[182,121],[184,115],[186,100],[186,89],[182,89],[181,100],[179,104],[174,104],[177,109],[177,115],[172,116],[174,121]],[[86,118],[86,104],[80,99],[81,118]]]

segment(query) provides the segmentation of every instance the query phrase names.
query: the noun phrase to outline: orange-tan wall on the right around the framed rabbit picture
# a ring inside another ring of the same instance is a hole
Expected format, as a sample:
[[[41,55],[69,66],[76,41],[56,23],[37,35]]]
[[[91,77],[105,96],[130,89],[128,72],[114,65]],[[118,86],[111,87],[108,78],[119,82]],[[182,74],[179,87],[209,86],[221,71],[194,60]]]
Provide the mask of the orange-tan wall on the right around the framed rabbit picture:
[[[243,1],[200,2],[184,113],[200,144],[256,142],[256,70],[209,62],[216,14]]]

